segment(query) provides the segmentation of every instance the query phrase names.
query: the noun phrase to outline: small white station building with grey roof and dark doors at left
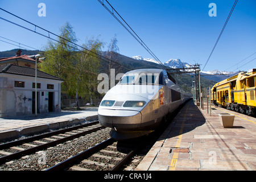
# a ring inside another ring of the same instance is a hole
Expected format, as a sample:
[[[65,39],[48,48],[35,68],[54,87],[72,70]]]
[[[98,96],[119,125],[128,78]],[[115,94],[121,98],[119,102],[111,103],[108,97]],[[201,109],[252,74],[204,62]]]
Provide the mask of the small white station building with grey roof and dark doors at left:
[[[37,71],[38,113],[61,111],[61,78]],[[35,69],[0,65],[0,118],[35,113]]]

